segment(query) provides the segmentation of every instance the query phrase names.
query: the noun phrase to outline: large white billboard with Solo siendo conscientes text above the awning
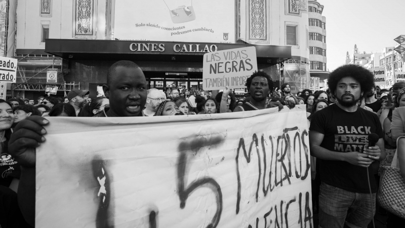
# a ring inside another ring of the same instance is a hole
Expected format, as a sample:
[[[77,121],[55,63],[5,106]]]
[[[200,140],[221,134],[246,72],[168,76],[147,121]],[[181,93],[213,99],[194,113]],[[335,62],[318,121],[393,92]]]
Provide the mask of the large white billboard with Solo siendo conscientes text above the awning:
[[[119,0],[114,38],[235,43],[234,0]]]

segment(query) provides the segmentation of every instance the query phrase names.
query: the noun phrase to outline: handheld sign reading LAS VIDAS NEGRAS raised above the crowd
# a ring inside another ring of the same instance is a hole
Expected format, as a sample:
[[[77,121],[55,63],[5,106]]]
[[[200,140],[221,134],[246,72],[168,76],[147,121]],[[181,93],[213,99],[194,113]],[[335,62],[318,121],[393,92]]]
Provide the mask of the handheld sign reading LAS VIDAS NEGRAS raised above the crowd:
[[[256,48],[236,48],[204,54],[203,89],[246,88],[245,81],[257,71]]]

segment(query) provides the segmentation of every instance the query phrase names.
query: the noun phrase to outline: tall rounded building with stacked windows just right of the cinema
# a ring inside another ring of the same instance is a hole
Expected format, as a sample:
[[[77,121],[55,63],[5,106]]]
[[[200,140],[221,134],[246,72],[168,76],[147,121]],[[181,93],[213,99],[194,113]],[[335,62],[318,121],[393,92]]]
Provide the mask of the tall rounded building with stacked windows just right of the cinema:
[[[311,90],[326,89],[329,78],[326,57],[326,18],[322,16],[323,5],[316,0],[308,1],[309,67]]]

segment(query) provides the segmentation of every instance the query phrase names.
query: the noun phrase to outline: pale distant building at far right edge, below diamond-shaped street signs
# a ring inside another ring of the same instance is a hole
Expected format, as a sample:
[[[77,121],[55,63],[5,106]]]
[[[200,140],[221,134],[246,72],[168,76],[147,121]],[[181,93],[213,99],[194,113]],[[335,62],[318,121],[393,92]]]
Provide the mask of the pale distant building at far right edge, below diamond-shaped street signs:
[[[396,47],[386,47],[382,50],[380,56],[380,66],[385,68],[387,87],[391,87],[396,83],[394,72],[405,71],[404,55],[394,51]]]

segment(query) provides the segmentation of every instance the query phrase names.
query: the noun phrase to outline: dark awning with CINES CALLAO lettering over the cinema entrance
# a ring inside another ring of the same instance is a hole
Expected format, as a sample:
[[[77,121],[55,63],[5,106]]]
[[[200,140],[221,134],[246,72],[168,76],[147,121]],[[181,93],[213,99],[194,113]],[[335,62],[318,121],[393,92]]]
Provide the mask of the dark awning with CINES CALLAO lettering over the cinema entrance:
[[[131,60],[203,62],[207,52],[253,46],[257,63],[274,65],[291,58],[291,47],[250,44],[182,43],[159,41],[47,39],[45,52],[74,60]]]

